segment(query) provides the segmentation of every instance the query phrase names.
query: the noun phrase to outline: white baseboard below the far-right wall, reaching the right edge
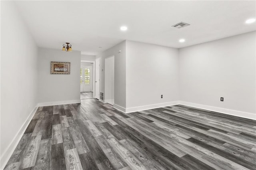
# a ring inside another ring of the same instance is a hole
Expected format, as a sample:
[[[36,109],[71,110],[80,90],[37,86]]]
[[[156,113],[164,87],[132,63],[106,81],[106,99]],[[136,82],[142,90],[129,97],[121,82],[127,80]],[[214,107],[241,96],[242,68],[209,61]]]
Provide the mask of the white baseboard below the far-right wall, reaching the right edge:
[[[247,113],[247,112],[241,112],[241,111],[235,111],[231,109],[224,109],[220,107],[213,107],[213,106],[208,106],[208,105],[200,105],[196,103],[190,103],[190,102],[185,102],[185,101],[179,101],[180,105],[185,105],[185,106],[190,106],[190,107],[196,107],[199,109],[205,109],[208,111],[214,111],[218,113],[224,113],[227,115],[232,115],[232,116],[237,116],[237,117],[243,117],[247,119],[253,119],[256,120],[256,114],[253,113]]]

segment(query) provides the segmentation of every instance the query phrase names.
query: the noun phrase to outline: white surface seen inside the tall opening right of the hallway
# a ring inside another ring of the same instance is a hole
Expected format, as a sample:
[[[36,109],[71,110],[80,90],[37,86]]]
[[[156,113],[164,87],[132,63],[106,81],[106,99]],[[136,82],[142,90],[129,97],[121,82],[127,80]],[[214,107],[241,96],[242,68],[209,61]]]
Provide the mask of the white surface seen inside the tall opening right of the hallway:
[[[105,59],[105,102],[114,102],[114,59],[114,56]]]

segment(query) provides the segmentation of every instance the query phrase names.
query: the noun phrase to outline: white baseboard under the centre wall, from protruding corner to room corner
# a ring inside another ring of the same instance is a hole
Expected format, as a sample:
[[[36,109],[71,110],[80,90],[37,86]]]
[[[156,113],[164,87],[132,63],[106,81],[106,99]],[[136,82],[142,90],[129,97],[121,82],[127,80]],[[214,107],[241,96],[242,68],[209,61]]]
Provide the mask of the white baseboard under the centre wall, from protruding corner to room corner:
[[[171,101],[171,102],[166,102],[166,103],[158,103],[158,104],[154,104],[154,105],[130,107],[130,108],[125,109],[125,113],[144,111],[144,110],[148,110],[148,109],[156,109],[159,107],[166,107],[166,106],[172,106],[172,105],[178,105],[178,104],[179,104],[179,101]]]

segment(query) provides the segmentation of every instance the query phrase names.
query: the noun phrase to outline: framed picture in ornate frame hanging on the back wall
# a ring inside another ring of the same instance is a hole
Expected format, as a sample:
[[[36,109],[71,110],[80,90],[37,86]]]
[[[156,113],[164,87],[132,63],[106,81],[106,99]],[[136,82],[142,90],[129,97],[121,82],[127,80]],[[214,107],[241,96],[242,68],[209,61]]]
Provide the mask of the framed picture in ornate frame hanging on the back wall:
[[[70,62],[51,61],[51,74],[70,74]]]

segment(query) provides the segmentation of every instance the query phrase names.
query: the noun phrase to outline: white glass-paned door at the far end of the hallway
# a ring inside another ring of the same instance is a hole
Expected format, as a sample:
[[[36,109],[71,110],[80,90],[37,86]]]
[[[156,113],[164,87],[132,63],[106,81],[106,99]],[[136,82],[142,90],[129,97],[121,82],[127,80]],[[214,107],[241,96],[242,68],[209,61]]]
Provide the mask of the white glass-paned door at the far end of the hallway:
[[[84,66],[80,68],[80,92],[90,92],[92,89],[92,67]]]

